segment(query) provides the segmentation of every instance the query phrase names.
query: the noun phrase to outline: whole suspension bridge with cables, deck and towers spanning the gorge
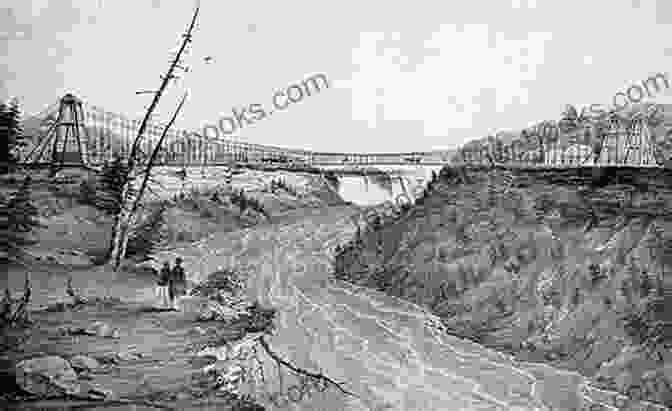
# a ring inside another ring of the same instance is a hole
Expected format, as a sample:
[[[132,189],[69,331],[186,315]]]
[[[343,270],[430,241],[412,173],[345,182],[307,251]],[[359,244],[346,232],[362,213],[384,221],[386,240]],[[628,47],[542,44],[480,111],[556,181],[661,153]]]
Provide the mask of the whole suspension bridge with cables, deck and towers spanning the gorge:
[[[20,158],[26,166],[97,168],[115,156],[127,156],[140,120],[84,103],[72,94],[32,117],[29,144]],[[149,122],[140,144],[148,156],[166,125]],[[579,136],[580,137],[580,136]],[[571,139],[570,139],[571,140]],[[521,168],[662,167],[647,122],[613,121],[602,133],[599,148],[586,139],[546,142],[536,148],[521,141],[509,144],[465,145],[455,152],[329,153],[274,147],[233,140],[209,139],[200,133],[167,131],[156,163],[162,166],[222,166],[237,164],[303,165],[344,170],[374,166],[441,166],[448,163]]]

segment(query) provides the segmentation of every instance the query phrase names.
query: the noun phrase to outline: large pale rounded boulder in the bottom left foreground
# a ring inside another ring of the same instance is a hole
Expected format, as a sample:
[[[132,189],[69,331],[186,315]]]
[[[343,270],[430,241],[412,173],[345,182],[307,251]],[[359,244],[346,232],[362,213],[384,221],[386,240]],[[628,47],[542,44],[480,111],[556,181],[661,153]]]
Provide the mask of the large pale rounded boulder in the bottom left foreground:
[[[41,398],[81,392],[77,373],[65,359],[57,356],[21,361],[16,365],[16,382],[24,391]]]

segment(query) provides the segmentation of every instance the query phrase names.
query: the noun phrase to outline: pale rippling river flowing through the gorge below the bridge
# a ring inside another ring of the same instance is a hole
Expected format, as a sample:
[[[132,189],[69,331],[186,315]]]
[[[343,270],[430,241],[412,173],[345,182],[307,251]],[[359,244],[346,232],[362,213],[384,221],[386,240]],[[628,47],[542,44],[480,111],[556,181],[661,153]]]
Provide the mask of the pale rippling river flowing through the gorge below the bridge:
[[[182,256],[195,280],[227,266],[246,272],[250,296],[279,310],[273,349],[357,395],[329,392],[299,409],[579,409],[578,374],[516,363],[449,336],[439,318],[418,305],[331,280],[331,250],[351,239],[352,211],[307,210],[299,222],[215,234],[157,260]],[[266,367],[266,375],[277,373],[272,362]]]

